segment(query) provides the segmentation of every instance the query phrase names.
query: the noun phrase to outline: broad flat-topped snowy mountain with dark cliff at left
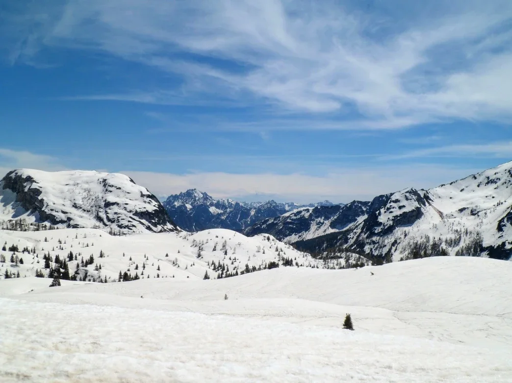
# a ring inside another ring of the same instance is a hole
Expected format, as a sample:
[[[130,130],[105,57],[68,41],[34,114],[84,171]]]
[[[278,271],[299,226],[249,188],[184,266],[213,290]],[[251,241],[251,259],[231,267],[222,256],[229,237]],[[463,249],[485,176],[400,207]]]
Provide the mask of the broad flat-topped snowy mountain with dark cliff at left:
[[[3,228],[45,222],[117,233],[177,230],[153,194],[117,173],[12,170],[0,181],[0,202]]]

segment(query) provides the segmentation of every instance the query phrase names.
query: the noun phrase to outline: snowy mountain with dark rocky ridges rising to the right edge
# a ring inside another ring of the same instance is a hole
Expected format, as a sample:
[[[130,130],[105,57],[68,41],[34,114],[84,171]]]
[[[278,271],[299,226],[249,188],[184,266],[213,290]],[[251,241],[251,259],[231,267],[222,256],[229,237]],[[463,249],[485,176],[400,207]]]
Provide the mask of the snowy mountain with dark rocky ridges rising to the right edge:
[[[372,201],[296,210],[244,231],[261,232],[314,253],[344,249],[376,261],[432,255],[509,259],[512,162],[430,190],[409,188]]]

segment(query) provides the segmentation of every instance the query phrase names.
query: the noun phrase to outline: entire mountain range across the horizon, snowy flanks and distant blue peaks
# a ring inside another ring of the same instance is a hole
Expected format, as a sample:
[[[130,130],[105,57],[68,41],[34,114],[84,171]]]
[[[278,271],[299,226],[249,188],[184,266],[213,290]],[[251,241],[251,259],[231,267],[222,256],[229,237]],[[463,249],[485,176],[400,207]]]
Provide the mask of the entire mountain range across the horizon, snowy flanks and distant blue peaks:
[[[161,204],[122,174],[7,173],[0,181],[0,229],[44,230],[48,224],[114,234],[231,229],[270,234],[316,257],[356,254],[374,263],[439,255],[510,259],[512,162],[429,190],[308,206],[214,199],[196,189]]]

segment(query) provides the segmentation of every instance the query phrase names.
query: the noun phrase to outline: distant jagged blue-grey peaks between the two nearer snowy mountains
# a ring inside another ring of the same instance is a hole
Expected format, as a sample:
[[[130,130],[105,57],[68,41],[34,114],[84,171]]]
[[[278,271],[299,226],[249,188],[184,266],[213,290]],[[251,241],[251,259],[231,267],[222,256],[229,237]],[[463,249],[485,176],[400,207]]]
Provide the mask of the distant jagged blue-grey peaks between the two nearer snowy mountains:
[[[188,232],[206,229],[242,230],[269,217],[315,206],[333,206],[330,201],[298,205],[294,202],[239,202],[232,199],[214,199],[197,189],[189,189],[167,197],[165,210],[176,224]]]

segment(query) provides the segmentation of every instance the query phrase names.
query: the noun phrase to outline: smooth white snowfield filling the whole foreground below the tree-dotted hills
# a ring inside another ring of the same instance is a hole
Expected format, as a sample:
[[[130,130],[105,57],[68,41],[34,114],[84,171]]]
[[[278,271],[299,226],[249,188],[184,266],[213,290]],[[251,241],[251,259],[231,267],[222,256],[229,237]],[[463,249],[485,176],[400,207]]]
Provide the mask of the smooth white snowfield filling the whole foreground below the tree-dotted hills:
[[[511,277],[508,262],[437,257],[219,280],[0,280],[0,380],[509,382]]]

